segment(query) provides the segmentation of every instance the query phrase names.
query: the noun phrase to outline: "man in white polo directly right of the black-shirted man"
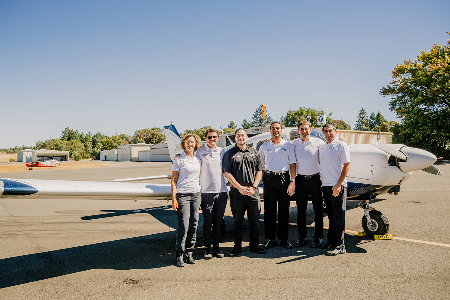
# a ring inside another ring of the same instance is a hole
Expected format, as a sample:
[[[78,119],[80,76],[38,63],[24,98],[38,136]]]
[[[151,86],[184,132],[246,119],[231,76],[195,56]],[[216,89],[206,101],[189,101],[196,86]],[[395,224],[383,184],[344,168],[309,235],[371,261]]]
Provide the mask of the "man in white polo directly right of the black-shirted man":
[[[280,122],[272,122],[270,124],[272,138],[259,148],[261,161],[266,169],[262,177],[264,189],[264,237],[269,239],[269,242],[264,246],[266,249],[277,244],[276,237],[280,240],[280,246],[286,249],[293,247],[288,242],[288,195],[292,195],[295,191],[296,159],[292,144],[281,138],[282,133]],[[293,180],[290,180],[291,178]]]

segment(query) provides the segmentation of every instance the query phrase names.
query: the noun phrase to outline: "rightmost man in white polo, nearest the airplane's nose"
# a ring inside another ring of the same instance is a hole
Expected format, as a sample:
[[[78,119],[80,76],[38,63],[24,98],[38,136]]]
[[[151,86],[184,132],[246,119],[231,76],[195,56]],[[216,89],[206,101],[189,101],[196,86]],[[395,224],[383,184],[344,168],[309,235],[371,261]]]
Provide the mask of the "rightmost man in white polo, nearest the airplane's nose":
[[[329,219],[328,241],[322,245],[328,255],[345,253],[344,228],[347,204],[347,173],[350,169],[350,151],[337,137],[336,127],[327,123],[322,128],[326,143],[319,148],[322,192]]]

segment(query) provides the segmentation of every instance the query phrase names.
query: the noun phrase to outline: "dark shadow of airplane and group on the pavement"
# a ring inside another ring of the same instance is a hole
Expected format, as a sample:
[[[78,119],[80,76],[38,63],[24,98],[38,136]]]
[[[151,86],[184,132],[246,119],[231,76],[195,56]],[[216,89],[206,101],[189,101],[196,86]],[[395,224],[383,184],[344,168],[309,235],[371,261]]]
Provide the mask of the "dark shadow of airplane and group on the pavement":
[[[383,199],[372,200],[371,203],[381,201]],[[136,213],[148,213],[163,224],[171,228],[177,227],[176,218],[173,210],[168,210],[171,206],[152,207],[140,210],[103,210],[106,214],[83,216],[83,220],[93,220],[101,218],[109,218],[120,215],[130,215]],[[354,201],[347,201],[347,210],[355,207]],[[362,210],[361,210],[362,212]],[[290,211],[290,222],[296,223],[297,208],[292,207]],[[324,214],[326,217],[326,214]],[[264,219],[264,215],[261,215]],[[194,258],[201,259],[203,256],[202,246],[202,221],[199,218],[197,228],[197,245],[194,249]],[[307,216],[307,224],[314,221],[314,214]],[[225,216],[227,224],[227,233],[222,237],[222,242],[233,242],[233,218]],[[244,221],[244,229],[248,228],[247,220]],[[326,240],[327,230],[324,230]],[[308,237],[310,243],[314,236],[314,228],[308,228]],[[264,245],[266,240],[264,237],[264,222],[260,222],[260,243]],[[298,238],[297,226],[289,226],[289,239],[295,242]],[[248,242],[248,231],[244,230],[243,241]],[[365,253],[366,251],[357,246],[362,240],[369,240],[368,237],[350,236],[346,234],[345,241],[347,252]],[[155,233],[141,237],[132,237],[110,242],[102,242],[97,244],[77,246],[67,249],[47,251],[29,255],[10,257],[0,260],[0,288],[16,286],[27,282],[35,282],[38,280],[54,278],[62,275],[82,272],[90,269],[155,269],[166,266],[174,266],[175,268],[175,231],[164,233]],[[232,247],[221,247],[228,255]],[[284,264],[305,258],[311,258],[325,254],[324,249],[312,249],[310,244],[294,249],[284,249],[276,246],[267,251],[266,254],[260,255],[248,251],[248,246],[243,247],[243,252],[239,256],[247,256],[252,258],[277,258],[277,257],[299,257],[279,262]]]

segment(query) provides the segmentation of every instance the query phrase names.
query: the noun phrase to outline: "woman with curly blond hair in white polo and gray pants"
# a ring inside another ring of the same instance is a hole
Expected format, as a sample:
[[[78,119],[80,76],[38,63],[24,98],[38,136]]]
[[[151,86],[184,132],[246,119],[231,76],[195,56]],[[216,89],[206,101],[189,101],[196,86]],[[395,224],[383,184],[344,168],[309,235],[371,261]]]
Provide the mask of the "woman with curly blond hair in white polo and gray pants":
[[[180,143],[184,152],[172,165],[172,208],[178,221],[176,228],[175,256],[176,265],[195,264],[192,252],[197,237],[198,208],[200,207],[200,166],[201,162],[194,155],[200,149],[197,134],[186,134]]]

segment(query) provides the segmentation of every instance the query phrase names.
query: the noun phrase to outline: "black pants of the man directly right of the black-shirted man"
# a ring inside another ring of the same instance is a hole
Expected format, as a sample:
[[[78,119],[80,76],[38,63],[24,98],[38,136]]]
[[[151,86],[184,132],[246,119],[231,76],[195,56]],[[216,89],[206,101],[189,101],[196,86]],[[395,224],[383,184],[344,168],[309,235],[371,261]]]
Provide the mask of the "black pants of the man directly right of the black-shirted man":
[[[264,173],[262,177],[264,189],[264,237],[280,241],[288,240],[289,222],[289,174],[273,175]],[[278,235],[277,235],[277,204],[278,204]]]

